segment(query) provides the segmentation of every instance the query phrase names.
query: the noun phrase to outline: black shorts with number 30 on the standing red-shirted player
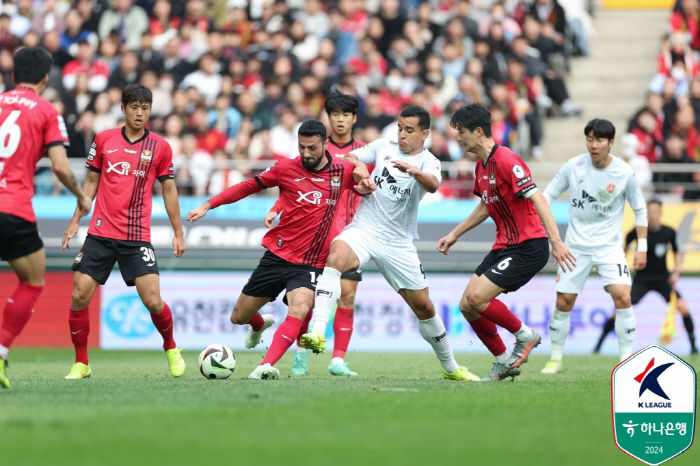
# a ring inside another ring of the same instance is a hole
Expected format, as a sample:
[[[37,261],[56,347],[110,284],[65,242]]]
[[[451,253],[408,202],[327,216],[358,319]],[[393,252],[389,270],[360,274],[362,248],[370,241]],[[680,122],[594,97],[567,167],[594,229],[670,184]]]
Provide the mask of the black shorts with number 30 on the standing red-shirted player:
[[[70,269],[89,275],[104,285],[115,263],[119,263],[119,271],[126,286],[134,286],[134,280],[141,275],[158,275],[158,261],[151,243],[93,235],[85,238],[85,243]]]

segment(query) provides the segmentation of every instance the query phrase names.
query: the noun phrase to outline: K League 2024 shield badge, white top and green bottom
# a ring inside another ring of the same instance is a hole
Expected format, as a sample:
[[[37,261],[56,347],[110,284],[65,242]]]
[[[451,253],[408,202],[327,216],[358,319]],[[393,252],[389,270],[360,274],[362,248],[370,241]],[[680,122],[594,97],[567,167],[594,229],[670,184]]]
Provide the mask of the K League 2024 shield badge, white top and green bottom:
[[[647,346],[612,373],[617,446],[657,465],[690,448],[695,432],[695,370],[660,346]]]

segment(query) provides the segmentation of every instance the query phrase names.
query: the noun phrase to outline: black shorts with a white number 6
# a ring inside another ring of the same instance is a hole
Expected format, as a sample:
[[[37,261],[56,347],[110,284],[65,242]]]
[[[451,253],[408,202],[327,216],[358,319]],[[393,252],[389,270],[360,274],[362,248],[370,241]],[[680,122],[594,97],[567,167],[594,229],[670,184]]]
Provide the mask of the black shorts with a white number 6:
[[[549,260],[549,239],[535,238],[517,246],[492,249],[474,273],[482,274],[501,288],[515,291],[532,280]]]

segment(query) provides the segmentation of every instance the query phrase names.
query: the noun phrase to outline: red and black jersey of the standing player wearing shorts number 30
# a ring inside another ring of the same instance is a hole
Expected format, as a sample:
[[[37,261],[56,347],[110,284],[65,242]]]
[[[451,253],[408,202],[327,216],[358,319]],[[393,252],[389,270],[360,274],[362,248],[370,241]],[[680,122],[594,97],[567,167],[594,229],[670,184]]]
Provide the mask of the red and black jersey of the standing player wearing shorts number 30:
[[[170,144],[148,130],[131,142],[124,127],[110,129],[95,136],[86,165],[101,174],[88,233],[150,242],[153,184],[174,178]]]

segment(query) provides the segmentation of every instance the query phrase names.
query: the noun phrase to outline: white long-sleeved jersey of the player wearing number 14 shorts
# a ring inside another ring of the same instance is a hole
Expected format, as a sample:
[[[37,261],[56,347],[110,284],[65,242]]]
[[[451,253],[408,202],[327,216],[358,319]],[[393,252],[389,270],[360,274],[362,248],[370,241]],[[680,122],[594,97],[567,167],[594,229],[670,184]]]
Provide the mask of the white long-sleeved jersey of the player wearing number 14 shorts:
[[[593,165],[588,153],[570,159],[544,191],[551,205],[570,190],[565,242],[577,251],[622,249],[625,200],[634,210],[636,225],[647,226],[646,204],[634,170],[622,159],[611,157],[612,162],[603,169]]]

